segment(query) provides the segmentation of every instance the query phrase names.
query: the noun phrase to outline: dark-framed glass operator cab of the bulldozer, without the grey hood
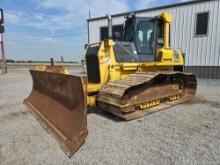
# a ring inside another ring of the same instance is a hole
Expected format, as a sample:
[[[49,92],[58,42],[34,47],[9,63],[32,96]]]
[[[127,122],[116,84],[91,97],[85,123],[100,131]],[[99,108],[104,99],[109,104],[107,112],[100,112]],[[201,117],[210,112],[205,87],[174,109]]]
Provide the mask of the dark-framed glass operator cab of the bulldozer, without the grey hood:
[[[140,61],[154,61],[155,50],[164,45],[164,25],[161,19],[136,18],[125,22],[124,42],[132,42],[133,54]]]

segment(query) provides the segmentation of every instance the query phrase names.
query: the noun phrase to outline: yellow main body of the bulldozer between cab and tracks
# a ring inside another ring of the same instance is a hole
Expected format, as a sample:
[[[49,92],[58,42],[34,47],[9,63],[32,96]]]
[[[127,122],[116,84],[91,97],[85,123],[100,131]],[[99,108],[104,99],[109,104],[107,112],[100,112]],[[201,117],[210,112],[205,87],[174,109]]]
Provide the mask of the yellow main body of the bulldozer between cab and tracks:
[[[120,80],[136,71],[172,70],[173,66],[182,66],[184,64],[180,51],[178,52],[178,61],[176,61],[173,50],[164,48],[158,49],[155,62],[118,63],[115,60],[113,46],[114,42],[112,40],[101,42],[98,52],[101,81],[96,84],[88,83],[88,93],[97,92],[107,82]]]

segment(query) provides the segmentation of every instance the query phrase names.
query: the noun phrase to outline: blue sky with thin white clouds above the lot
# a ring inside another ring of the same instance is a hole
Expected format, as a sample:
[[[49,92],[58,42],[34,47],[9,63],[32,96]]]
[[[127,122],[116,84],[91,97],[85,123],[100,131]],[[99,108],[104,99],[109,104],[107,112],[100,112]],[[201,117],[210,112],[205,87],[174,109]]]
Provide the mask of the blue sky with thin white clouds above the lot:
[[[7,59],[80,61],[87,19],[186,0],[0,0]]]

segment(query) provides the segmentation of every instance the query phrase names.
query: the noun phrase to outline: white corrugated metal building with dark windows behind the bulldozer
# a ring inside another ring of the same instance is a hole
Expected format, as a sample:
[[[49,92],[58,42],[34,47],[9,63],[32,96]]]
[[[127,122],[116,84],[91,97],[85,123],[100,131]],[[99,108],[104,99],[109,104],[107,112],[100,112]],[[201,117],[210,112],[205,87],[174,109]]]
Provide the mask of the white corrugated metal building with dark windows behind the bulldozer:
[[[220,79],[220,0],[197,0],[112,15],[113,32],[123,30],[124,16],[153,17],[169,12],[171,47],[186,53],[185,71],[200,78]],[[96,43],[107,35],[107,17],[88,20],[88,42]]]

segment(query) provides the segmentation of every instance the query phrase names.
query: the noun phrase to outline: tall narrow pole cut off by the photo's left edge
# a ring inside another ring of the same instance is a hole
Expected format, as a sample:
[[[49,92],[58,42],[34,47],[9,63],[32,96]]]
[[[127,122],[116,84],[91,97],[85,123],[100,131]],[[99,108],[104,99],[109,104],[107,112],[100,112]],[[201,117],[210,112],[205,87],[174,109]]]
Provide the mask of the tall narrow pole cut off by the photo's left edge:
[[[4,48],[4,39],[3,39],[3,33],[5,32],[4,29],[4,14],[3,9],[0,9],[0,46],[1,46],[1,61],[0,61],[0,74],[7,73],[7,66],[6,66],[6,60],[5,60],[5,48]]]

